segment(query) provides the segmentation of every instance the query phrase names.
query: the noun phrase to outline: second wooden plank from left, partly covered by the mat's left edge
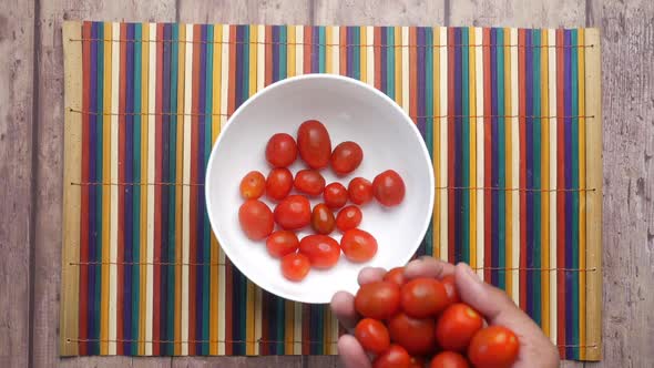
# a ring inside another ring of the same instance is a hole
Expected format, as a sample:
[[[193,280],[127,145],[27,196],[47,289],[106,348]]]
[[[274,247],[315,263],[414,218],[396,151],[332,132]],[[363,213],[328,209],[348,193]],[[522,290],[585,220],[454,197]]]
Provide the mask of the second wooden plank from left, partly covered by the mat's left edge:
[[[80,4],[73,0],[42,1],[37,34],[39,105],[37,137],[37,198],[34,252],[34,334],[33,362],[51,367],[58,362],[72,366],[129,366],[132,359],[73,358],[59,360],[59,293],[61,282],[61,235],[63,172],[63,50],[62,21],[127,20],[174,21],[175,1],[110,0]]]

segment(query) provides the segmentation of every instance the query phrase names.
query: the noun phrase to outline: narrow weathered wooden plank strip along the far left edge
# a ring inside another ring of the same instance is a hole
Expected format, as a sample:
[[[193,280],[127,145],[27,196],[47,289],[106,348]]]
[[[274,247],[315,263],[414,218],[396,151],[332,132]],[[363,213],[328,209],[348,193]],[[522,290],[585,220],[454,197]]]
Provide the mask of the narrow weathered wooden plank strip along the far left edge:
[[[34,7],[0,9],[0,366],[29,362]]]

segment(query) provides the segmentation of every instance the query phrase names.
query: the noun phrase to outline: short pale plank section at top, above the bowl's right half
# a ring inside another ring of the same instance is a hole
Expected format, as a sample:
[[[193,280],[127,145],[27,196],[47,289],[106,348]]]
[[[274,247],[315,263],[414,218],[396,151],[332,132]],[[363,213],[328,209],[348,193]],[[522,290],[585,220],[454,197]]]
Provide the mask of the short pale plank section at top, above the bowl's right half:
[[[316,24],[326,25],[439,25],[444,0],[315,0]]]

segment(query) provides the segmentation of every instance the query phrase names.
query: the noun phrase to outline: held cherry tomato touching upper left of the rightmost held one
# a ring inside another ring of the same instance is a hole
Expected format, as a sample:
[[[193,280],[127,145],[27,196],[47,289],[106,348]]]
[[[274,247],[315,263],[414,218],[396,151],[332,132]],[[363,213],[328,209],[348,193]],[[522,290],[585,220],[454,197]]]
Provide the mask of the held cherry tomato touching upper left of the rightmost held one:
[[[436,340],[446,350],[466,351],[472,336],[482,326],[483,320],[477,310],[463,303],[452,304],[436,323]]]

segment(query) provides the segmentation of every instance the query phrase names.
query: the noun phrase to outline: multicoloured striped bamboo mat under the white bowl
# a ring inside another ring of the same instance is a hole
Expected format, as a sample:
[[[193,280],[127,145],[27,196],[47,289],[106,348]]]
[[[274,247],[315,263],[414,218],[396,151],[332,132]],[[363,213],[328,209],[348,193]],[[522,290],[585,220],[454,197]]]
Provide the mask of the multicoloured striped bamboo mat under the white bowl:
[[[601,358],[596,30],[67,22],[63,38],[62,355],[336,354],[326,306],[225,258],[203,181],[252,94],[338,73],[397,101],[433,157],[418,255],[470,263],[563,358]]]

